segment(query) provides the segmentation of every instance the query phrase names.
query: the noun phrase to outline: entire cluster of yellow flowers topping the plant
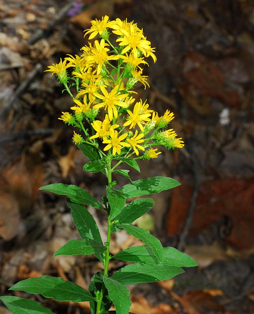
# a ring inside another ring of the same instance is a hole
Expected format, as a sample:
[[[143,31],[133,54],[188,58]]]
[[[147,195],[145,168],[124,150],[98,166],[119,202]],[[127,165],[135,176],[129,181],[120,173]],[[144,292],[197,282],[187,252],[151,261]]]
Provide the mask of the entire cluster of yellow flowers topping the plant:
[[[75,144],[94,146],[102,157],[107,153],[129,158],[142,152],[139,158],[146,159],[161,154],[152,146],[183,147],[173,129],[165,130],[174,114],[167,110],[159,116],[146,101],[132,96],[137,83],[149,87],[143,75],[145,59],[156,61],[143,29],[133,21],[104,16],[91,21],[86,35],[93,43],[82,47],[80,55],[68,55],[46,70],[56,74],[73,98],[73,112],[62,112],[59,119],[82,132],[82,136],[74,132]]]

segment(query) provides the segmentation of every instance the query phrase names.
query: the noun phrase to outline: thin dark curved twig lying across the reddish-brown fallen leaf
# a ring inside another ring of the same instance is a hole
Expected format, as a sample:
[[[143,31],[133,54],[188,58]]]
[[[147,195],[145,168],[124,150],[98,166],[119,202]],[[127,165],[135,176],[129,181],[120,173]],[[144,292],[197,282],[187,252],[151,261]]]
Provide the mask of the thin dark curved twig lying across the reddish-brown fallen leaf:
[[[192,198],[190,199],[190,205],[186,212],[186,219],[185,219],[184,226],[180,234],[179,242],[177,245],[177,248],[179,250],[183,250],[185,246],[185,240],[188,235],[190,225],[192,224],[193,213],[196,207],[196,200],[198,197],[199,186],[200,186],[199,163],[193,151],[192,143],[189,142],[187,147],[188,147],[187,150],[189,151],[189,154],[190,154],[190,160],[192,161],[192,165],[193,165],[194,184],[193,184]]]

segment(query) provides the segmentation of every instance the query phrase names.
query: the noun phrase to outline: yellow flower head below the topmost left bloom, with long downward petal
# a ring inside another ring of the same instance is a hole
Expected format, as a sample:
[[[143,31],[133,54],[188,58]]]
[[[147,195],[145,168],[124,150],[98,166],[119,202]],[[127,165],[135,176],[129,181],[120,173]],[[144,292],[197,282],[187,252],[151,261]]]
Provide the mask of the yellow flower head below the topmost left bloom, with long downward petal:
[[[108,46],[108,44],[105,43],[104,39],[102,39],[100,43],[96,40],[91,53],[85,57],[87,66],[97,65],[97,74],[102,72],[102,66],[105,62],[119,59],[117,55],[108,55],[109,48],[106,48],[106,46]]]

